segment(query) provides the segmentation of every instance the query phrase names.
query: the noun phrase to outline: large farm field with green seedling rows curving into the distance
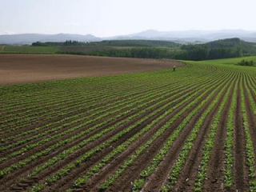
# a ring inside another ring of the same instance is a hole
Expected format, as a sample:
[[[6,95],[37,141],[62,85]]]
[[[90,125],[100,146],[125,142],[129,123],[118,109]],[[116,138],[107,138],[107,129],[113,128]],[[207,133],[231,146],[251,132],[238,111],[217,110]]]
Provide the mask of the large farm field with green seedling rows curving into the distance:
[[[256,191],[241,59],[0,86],[0,191]]]

